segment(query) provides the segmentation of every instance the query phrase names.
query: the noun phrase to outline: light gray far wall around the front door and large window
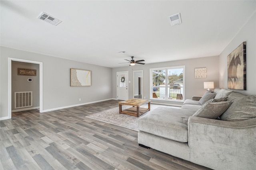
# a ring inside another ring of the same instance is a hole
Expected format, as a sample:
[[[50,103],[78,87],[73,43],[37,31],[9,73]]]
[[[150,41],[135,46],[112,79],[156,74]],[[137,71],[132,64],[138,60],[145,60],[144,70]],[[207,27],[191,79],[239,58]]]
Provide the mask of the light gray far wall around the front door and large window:
[[[145,59],[146,60],[146,59]],[[146,63],[146,61],[145,61]],[[133,98],[133,70],[144,70],[143,71],[143,95],[146,99],[150,99],[150,68],[170,67],[170,66],[185,66],[185,78],[186,78],[186,89],[185,99],[192,99],[192,96],[202,96],[206,90],[204,89],[204,82],[214,81],[215,87],[219,84],[219,57],[202,57],[196,59],[186,59],[178,61],[169,61],[164,63],[153,63],[135,66],[125,66],[112,69],[112,84],[113,98],[116,98],[116,72],[128,71],[129,72],[129,99]],[[207,78],[194,78],[194,68],[206,67]],[[181,105],[182,102],[171,102],[163,100],[152,100],[152,102],[165,103],[165,104],[176,104]]]

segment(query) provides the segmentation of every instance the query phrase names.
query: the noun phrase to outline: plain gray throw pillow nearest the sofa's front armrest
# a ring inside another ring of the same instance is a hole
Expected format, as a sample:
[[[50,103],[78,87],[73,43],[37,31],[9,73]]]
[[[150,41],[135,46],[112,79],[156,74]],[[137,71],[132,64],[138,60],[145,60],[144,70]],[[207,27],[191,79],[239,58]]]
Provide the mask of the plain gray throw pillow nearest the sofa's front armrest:
[[[224,111],[226,111],[226,109],[228,109],[231,104],[232,101],[207,103],[198,109],[198,111],[196,111],[193,116],[216,119],[222,115],[222,113],[224,113]]]

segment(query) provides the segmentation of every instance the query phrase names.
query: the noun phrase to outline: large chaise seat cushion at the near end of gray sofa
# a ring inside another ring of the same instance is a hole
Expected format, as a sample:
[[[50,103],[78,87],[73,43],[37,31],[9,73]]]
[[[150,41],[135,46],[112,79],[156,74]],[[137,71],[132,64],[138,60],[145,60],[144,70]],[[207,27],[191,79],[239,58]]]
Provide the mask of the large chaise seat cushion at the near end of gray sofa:
[[[138,130],[174,141],[188,142],[188,117],[196,111],[157,107],[138,119]]]

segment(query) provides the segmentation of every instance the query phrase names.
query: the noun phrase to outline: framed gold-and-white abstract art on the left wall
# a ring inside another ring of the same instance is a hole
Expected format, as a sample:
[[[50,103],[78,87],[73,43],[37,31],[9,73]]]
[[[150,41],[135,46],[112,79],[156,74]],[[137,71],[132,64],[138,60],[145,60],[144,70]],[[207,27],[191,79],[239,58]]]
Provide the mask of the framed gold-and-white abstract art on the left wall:
[[[70,68],[70,86],[71,87],[91,86],[91,71]]]

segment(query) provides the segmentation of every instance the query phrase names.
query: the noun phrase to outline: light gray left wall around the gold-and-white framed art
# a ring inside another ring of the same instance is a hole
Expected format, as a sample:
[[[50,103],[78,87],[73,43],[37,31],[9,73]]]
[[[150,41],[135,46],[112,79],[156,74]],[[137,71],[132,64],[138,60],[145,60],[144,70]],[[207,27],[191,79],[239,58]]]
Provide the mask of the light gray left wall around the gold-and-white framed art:
[[[0,56],[0,117],[8,116],[8,57],[43,63],[43,110],[112,98],[112,68],[8,47],[1,47]],[[70,68],[91,70],[92,86],[70,87]]]

